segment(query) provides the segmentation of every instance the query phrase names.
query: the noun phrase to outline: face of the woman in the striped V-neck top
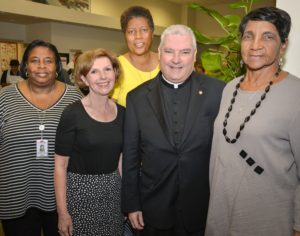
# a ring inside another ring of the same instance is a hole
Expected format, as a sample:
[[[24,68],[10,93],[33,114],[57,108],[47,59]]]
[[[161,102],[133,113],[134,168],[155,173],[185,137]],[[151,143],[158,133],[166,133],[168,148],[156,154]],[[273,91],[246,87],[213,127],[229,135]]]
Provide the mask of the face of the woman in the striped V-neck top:
[[[49,85],[56,78],[54,53],[47,47],[35,47],[28,55],[28,79],[39,85]]]

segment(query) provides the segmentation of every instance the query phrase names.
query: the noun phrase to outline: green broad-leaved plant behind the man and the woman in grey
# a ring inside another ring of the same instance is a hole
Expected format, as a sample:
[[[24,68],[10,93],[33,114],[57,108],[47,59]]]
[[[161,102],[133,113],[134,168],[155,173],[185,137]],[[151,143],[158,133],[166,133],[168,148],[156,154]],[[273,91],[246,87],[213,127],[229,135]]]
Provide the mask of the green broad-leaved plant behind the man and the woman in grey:
[[[259,0],[242,0],[228,4],[231,9],[244,9],[247,14],[254,2]],[[209,9],[198,3],[192,3],[190,8],[200,10],[215,19],[226,35],[221,37],[209,37],[197,30],[193,30],[199,44],[210,45],[201,52],[202,67],[207,74],[228,82],[244,73],[241,66],[239,15],[222,15],[214,9]]]

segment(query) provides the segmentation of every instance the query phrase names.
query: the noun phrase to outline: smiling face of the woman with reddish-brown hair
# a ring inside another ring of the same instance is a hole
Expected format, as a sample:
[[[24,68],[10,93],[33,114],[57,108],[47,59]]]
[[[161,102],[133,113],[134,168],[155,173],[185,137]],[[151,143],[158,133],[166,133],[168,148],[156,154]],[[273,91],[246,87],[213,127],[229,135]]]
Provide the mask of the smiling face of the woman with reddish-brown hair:
[[[81,75],[82,81],[89,87],[90,93],[108,96],[114,87],[116,72],[108,57],[96,58],[86,76]]]

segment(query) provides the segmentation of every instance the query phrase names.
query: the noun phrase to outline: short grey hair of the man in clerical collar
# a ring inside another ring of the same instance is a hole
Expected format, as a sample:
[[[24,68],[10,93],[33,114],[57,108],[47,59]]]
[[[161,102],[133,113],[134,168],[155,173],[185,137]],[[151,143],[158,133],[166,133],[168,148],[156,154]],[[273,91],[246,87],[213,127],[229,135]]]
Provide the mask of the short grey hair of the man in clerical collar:
[[[196,38],[191,28],[186,25],[171,25],[167,27],[160,36],[160,44],[158,48],[164,44],[167,35],[189,35],[192,38],[193,48],[197,49]]]

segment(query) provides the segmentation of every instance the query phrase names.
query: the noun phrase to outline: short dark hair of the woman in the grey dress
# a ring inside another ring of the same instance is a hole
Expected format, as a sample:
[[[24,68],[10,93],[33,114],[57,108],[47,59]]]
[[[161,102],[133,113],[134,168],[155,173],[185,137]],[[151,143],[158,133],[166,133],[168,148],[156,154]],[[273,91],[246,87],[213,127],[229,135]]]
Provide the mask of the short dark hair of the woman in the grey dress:
[[[290,15],[276,7],[262,7],[249,12],[241,21],[239,31],[241,36],[245,32],[245,28],[249,21],[267,21],[273,24],[280,36],[282,43],[286,41],[291,29],[291,17]]]

